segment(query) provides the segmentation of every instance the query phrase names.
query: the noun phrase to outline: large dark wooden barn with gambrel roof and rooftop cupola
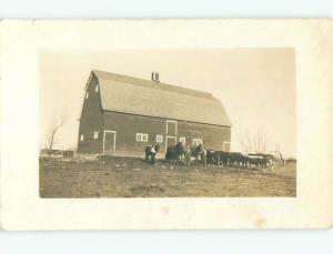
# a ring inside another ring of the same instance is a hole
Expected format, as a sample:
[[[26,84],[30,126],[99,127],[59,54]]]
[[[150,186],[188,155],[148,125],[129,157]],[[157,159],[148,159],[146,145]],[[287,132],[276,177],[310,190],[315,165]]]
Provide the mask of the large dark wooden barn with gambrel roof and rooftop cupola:
[[[159,143],[160,155],[175,142],[230,151],[231,122],[209,93],[93,70],[85,84],[78,153],[143,156]]]

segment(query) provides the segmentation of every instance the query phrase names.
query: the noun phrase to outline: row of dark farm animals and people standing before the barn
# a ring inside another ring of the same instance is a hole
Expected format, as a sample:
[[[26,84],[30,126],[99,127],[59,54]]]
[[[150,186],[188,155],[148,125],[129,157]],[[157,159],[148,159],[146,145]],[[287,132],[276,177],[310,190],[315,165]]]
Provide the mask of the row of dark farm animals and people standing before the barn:
[[[147,146],[145,160],[149,163],[155,163],[155,155],[160,146]],[[258,167],[272,169],[274,156],[271,154],[248,154],[238,152],[223,152],[203,148],[202,144],[192,148],[183,145],[181,142],[170,145],[167,149],[165,160],[170,162],[181,162],[185,165],[191,164],[191,159],[195,159],[195,163],[203,165],[213,164],[221,166],[235,167]]]

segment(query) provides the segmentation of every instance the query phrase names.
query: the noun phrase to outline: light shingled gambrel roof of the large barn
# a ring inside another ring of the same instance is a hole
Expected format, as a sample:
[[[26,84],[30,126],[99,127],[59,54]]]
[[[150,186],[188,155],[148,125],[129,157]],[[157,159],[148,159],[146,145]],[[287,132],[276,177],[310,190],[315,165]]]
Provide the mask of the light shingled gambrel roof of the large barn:
[[[97,71],[103,110],[231,126],[218,99],[210,93]]]

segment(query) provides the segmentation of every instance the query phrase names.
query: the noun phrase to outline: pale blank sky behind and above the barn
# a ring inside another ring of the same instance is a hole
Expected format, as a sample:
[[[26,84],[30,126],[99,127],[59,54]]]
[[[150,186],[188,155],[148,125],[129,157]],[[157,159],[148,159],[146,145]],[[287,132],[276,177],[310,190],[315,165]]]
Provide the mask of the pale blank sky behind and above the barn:
[[[61,119],[56,149],[75,149],[84,85],[91,70],[212,93],[232,122],[232,151],[249,144],[296,155],[295,51],[292,48],[154,49],[40,52],[41,148]],[[250,139],[250,142],[249,142]]]

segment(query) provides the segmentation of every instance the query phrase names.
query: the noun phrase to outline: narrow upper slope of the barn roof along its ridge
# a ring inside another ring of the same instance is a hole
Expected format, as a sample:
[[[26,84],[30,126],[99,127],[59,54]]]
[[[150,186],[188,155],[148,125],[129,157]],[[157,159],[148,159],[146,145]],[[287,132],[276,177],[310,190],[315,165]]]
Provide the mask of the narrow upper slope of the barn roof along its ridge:
[[[94,72],[98,75],[98,78],[105,79],[105,80],[109,80],[111,77],[119,78],[119,79],[121,79],[122,82],[125,82],[125,83],[131,83],[131,84],[135,84],[135,85],[144,85],[144,87],[149,87],[152,89],[160,89],[160,90],[164,90],[164,91],[167,90],[170,92],[178,92],[178,93],[183,91],[183,92],[188,92],[186,93],[188,95],[194,95],[194,96],[201,96],[201,98],[206,98],[206,99],[211,99],[211,100],[218,100],[211,93],[203,92],[200,90],[194,90],[194,89],[183,88],[183,87],[179,87],[179,85],[174,85],[174,84],[168,84],[168,83],[163,83],[163,82],[157,82],[157,81],[152,81],[152,80],[145,80],[142,78],[124,75],[124,74],[107,72],[107,71],[100,71],[100,70],[92,70],[92,72]],[[99,77],[99,74],[100,74],[100,77]],[[138,81],[139,81],[139,83],[138,83]],[[175,90],[181,90],[181,91],[175,91]]]

